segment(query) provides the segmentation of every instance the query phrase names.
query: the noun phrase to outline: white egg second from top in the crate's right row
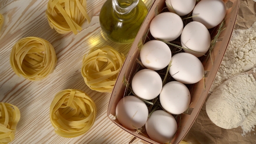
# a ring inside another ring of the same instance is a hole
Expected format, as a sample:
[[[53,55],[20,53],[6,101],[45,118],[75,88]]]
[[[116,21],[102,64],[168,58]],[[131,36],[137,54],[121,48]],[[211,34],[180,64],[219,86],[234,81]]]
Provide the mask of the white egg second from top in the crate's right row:
[[[211,37],[208,29],[199,22],[188,23],[181,33],[181,46],[193,50],[184,49],[184,51],[196,57],[203,56],[208,51],[210,42]]]

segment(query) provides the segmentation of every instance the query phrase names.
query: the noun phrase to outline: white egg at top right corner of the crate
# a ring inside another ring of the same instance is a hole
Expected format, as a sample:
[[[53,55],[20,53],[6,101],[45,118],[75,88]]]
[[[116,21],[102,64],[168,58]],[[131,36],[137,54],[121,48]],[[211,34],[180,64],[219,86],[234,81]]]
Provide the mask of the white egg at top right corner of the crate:
[[[220,24],[225,15],[226,5],[223,0],[201,0],[192,13],[193,20],[203,23],[207,29]]]

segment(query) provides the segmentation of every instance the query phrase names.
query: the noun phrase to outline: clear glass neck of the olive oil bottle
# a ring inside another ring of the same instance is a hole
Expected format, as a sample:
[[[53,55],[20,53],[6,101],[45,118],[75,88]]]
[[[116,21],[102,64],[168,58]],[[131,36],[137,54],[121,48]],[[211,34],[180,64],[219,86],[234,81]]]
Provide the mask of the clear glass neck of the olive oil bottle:
[[[139,0],[112,0],[112,6],[118,14],[130,13],[139,3]]]

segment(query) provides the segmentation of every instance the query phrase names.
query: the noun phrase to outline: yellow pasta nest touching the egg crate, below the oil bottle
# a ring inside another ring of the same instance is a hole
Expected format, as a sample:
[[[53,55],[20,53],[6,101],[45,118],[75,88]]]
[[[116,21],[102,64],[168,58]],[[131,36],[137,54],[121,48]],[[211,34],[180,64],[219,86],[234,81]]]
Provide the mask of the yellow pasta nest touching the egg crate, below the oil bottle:
[[[125,56],[111,46],[92,48],[82,61],[82,76],[89,88],[112,92]]]

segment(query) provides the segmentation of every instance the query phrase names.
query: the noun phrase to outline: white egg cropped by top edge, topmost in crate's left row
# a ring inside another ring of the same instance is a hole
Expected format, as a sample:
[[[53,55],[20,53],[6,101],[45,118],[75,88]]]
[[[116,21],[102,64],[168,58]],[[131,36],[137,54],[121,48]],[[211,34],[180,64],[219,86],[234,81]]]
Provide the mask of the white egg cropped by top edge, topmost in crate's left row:
[[[185,16],[194,9],[196,0],[165,0],[165,3],[170,12]]]

